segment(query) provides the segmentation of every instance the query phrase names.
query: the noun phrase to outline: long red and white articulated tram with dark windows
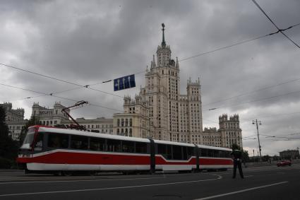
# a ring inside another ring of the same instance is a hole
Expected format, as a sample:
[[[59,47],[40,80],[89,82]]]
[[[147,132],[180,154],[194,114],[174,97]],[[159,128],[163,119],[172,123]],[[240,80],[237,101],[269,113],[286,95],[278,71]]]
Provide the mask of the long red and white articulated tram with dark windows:
[[[231,150],[212,146],[32,126],[17,162],[26,172],[148,171],[232,168]]]

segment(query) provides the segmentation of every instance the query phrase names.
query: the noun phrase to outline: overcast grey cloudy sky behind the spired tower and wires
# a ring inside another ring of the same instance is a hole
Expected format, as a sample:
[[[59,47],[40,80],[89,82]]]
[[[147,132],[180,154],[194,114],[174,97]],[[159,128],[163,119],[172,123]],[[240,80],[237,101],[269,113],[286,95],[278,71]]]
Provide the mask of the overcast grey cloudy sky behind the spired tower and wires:
[[[300,1],[257,2],[282,29],[300,23]],[[150,66],[162,41],[161,23],[166,25],[172,58],[179,60],[277,31],[250,0],[1,1],[0,63],[83,86],[102,83]],[[300,25],[284,33],[300,44]],[[186,94],[189,77],[200,77],[203,127],[219,128],[222,113],[239,114],[242,134],[248,137],[256,134],[251,122],[258,119],[263,155],[278,154],[300,147],[300,139],[280,138],[300,138],[299,64],[300,49],[286,37],[264,37],[180,61],[181,94]],[[145,86],[145,73],[136,75],[136,88],[124,91],[114,92],[112,82],[91,86],[118,97],[1,65],[0,74],[1,84],[42,93],[77,88],[56,95],[116,110],[123,110],[121,97],[133,96]],[[0,102],[23,107],[25,118],[30,117],[33,102],[45,107],[53,107],[56,101],[66,106],[74,103],[38,95],[0,86]],[[25,100],[28,97],[35,98]],[[86,119],[112,118],[116,110],[85,106],[71,113]],[[253,149],[257,155],[256,136],[243,143],[251,155]]]

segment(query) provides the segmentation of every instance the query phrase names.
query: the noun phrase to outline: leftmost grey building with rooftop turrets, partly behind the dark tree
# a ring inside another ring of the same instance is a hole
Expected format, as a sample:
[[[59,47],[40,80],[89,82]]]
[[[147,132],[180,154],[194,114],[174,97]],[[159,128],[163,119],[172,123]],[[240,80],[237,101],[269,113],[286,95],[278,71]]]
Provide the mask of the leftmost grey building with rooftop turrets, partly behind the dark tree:
[[[4,107],[6,111],[5,122],[9,129],[9,135],[13,140],[18,141],[22,127],[28,122],[27,119],[24,119],[24,109],[17,108],[14,110],[11,102],[4,102],[0,106]]]

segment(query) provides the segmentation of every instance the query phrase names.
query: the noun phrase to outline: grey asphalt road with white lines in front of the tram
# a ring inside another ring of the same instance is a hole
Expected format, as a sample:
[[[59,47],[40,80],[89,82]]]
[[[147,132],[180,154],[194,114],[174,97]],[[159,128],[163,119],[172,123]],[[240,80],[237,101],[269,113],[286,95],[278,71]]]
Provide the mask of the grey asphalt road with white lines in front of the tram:
[[[0,199],[300,199],[300,165],[232,171],[54,177],[0,170]]]

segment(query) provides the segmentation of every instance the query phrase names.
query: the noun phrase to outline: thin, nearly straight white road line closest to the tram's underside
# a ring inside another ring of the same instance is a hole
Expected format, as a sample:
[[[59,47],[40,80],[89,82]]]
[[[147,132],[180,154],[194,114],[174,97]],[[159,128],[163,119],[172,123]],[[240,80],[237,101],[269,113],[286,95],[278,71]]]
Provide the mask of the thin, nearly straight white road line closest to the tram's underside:
[[[125,179],[110,179],[110,180],[53,180],[53,181],[28,181],[28,182],[0,182],[0,184],[28,184],[28,183],[52,183],[52,182],[92,182],[92,181],[112,181],[112,180],[152,180],[162,179],[165,177],[145,177],[145,178],[125,178]]]

